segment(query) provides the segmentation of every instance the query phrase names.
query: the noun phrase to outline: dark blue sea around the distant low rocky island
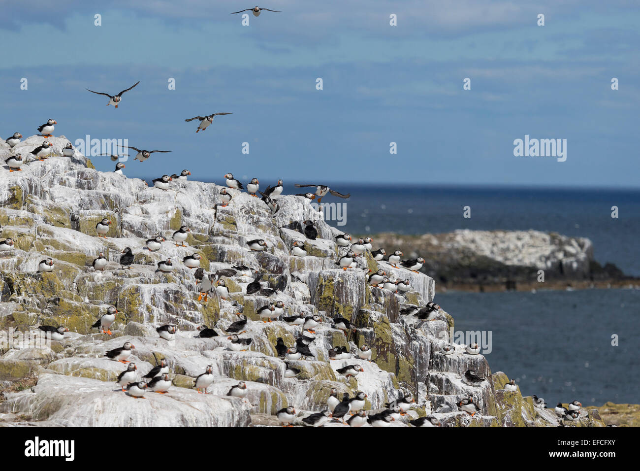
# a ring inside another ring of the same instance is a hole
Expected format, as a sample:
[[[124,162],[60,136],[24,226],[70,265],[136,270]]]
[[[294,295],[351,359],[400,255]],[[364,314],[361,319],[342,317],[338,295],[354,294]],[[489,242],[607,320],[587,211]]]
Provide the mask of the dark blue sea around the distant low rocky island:
[[[638,190],[330,186],[351,194],[323,200],[345,203],[346,224],[328,222],[349,233],[552,231],[588,237],[597,261],[640,276]],[[291,192],[300,189],[285,187]],[[470,218],[463,217],[465,206]],[[612,217],[614,206],[618,217]],[[435,301],[454,317],[456,331],[491,331],[486,358],[492,371],[515,379],[524,395],[543,397],[549,406],[574,399],[585,406],[640,403],[640,290],[449,291]]]

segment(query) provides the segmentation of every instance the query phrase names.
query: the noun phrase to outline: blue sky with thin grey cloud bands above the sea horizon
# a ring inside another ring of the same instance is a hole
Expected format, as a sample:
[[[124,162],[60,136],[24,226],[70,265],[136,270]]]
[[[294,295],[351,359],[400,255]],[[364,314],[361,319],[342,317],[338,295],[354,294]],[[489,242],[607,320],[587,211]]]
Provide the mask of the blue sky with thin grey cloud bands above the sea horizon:
[[[130,177],[640,185],[635,2],[269,0],[260,6],[282,13],[250,15],[250,26],[229,14],[254,6],[241,1],[0,4],[1,136],[54,118],[72,142],[173,150],[129,160]],[[138,80],[118,110],[84,90]],[[213,112],[234,114],[198,135],[184,122]],[[515,157],[524,135],[566,138],[567,160]]]

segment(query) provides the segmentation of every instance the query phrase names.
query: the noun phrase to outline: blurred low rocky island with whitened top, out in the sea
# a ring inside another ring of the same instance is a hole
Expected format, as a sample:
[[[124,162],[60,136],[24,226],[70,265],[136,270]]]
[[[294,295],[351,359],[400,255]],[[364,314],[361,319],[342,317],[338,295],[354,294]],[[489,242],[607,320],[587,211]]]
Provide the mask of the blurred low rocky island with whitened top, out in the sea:
[[[421,236],[382,233],[377,245],[406,257],[426,255],[422,271],[438,290],[504,291],[640,286],[612,263],[593,258],[584,237],[541,231],[471,231]],[[543,273],[540,272],[543,271]],[[543,279],[544,281],[540,281]]]

